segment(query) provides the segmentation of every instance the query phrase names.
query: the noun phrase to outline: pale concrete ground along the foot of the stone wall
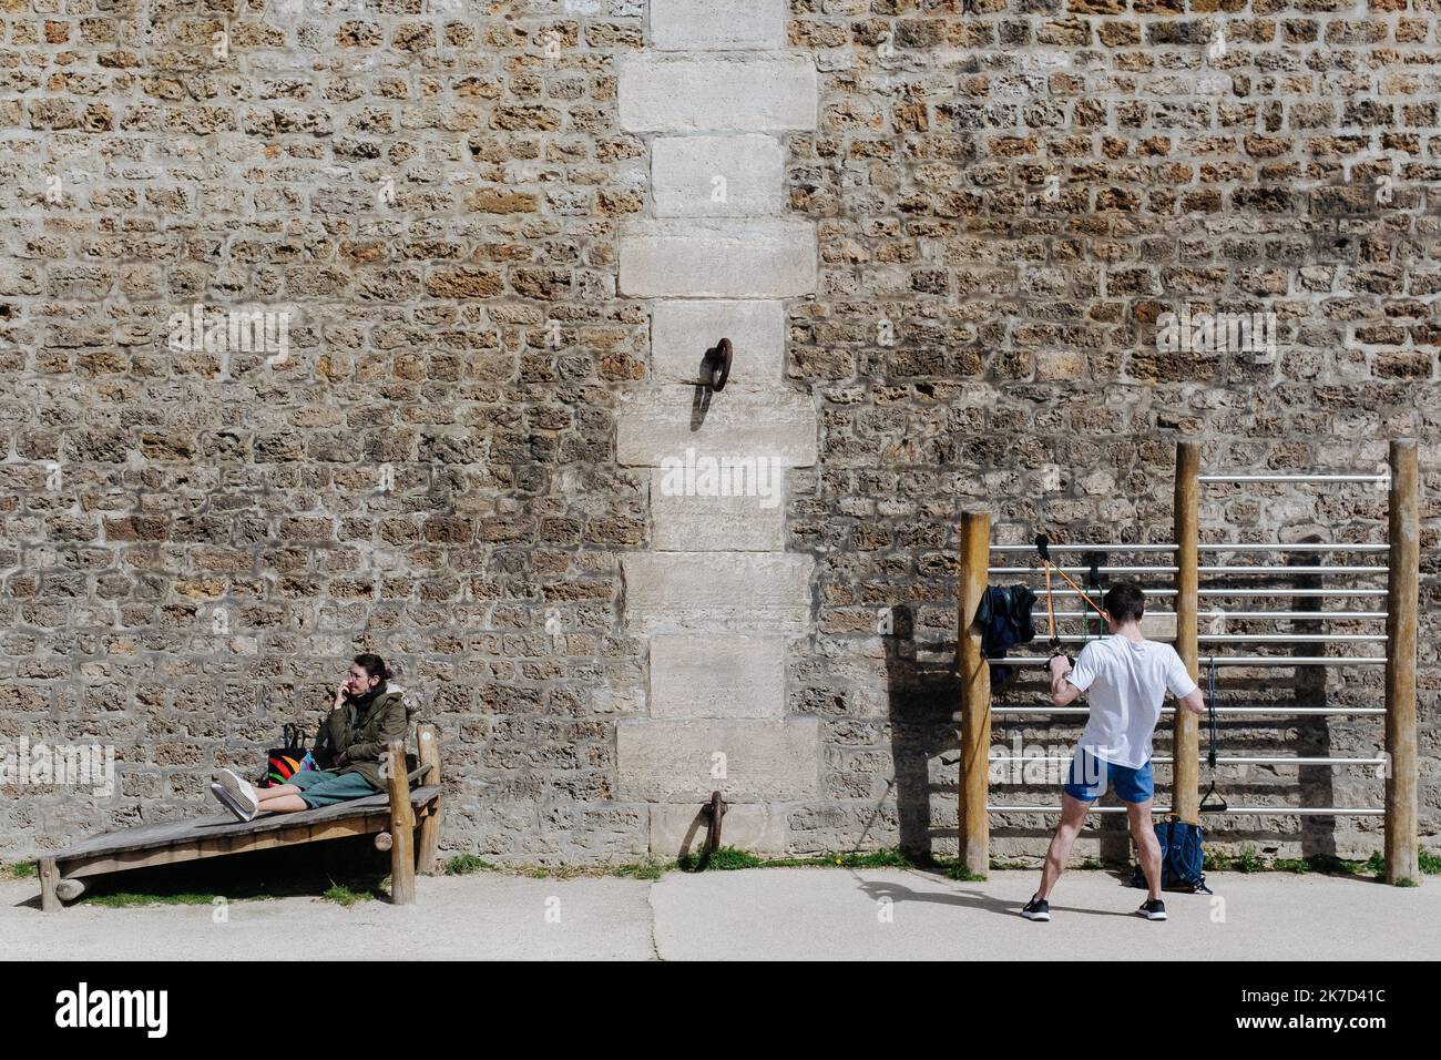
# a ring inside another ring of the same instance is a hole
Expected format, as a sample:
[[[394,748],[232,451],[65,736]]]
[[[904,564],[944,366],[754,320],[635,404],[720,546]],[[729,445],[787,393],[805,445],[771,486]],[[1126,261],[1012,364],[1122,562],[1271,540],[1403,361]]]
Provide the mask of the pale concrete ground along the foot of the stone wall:
[[[1170,920],[1131,916],[1141,893],[1066,874],[1050,923],[1017,910],[1036,873],[955,883],[909,870],[759,868],[621,878],[421,877],[418,901],[349,909],[310,897],[39,911],[35,880],[0,883],[9,960],[269,959],[297,932],[353,958],[529,960],[1418,960],[1441,955],[1441,881],[1395,888],[1265,873],[1212,877],[1215,898],[1167,894]]]

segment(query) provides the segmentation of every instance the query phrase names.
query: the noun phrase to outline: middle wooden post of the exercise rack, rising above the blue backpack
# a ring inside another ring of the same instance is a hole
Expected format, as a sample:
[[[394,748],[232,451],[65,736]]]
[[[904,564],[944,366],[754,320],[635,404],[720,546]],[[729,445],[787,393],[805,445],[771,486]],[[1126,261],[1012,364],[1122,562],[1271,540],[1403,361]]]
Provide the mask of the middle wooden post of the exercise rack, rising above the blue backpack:
[[[1200,443],[1176,443],[1176,653],[1186,663],[1193,681],[1200,679],[1197,629],[1197,551],[1200,544]],[[1172,813],[1182,821],[1200,823],[1200,743],[1199,724],[1190,711],[1176,711],[1172,723]]]

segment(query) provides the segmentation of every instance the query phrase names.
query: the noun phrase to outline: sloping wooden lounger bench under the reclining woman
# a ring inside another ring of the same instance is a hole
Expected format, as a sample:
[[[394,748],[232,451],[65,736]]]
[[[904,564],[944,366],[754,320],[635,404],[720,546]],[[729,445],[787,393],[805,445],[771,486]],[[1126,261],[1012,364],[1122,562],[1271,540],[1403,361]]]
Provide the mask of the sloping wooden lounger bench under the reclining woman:
[[[392,773],[389,792],[318,806],[300,813],[264,813],[254,821],[219,816],[167,821],[81,839],[58,854],[39,858],[40,910],[55,913],[85,891],[85,877],[127,868],[173,865],[196,858],[295,847],[350,835],[375,835],[391,851],[391,901],[415,901],[415,871],[440,868],[441,757],[434,725],[419,725],[419,767]],[[405,761],[405,744],[391,744],[391,761]],[[415,785],[412,787],[412,785]],[[419,847],[415,829],[421,829]]]

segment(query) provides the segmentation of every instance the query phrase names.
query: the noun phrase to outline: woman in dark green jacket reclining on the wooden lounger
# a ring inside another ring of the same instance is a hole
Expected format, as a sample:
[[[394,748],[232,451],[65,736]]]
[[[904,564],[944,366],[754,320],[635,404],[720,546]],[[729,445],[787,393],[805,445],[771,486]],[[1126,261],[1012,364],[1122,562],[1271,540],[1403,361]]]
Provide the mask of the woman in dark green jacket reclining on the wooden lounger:
[[[321,769],[295,773],[277,787],[255,787],[222,769],[210,792],[236,818],[251,821],[256,813],[300,813],[385,790],[382,757],[392,740],[405,743],[408,728],[402,689],[386,688],[391,676],[379,655],[356,656],[316,740],[313,756]]]

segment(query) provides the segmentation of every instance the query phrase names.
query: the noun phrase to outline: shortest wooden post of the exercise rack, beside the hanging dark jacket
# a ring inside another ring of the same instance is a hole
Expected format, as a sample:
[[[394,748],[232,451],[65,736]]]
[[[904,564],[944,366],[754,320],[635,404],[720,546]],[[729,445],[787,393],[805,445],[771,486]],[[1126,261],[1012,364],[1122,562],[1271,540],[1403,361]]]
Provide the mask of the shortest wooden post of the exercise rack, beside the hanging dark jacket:
[[[990,565],[990,512],[961,513],[960,610],[955,648],[961,671],[961,864],[984,875],[990,868],[990,816],[986,813],[990,757],[990,665],[981,655],[976,610]]]

